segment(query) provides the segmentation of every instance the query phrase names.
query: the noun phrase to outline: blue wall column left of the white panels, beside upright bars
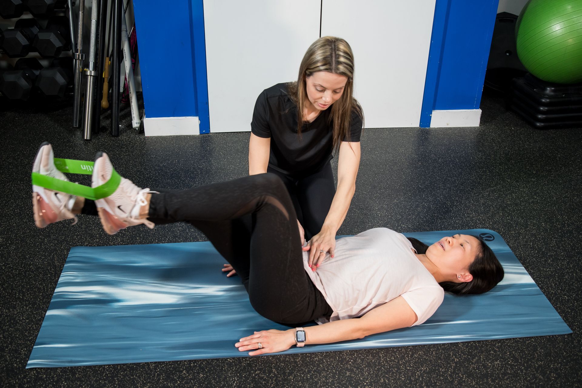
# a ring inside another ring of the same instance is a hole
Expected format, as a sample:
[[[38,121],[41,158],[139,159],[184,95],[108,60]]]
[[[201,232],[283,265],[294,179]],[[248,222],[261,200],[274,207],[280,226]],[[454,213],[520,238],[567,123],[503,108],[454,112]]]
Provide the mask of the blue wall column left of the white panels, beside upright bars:
[[[133,9],[146,117],[197,116],[210,132],[203,1],[133,0]]]

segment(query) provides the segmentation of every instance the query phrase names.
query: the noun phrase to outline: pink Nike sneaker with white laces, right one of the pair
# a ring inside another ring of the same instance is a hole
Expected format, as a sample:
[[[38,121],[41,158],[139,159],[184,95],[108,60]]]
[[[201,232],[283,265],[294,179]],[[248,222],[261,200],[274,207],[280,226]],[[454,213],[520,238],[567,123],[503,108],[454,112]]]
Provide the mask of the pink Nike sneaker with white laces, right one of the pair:
[[[93,166],[93,177],[91,187],[101,186],[111,178],[113,166],[109,161],[109,156],[105,152],[97,152],[95,164]],[[143,223],[150,229],[154,228],[154,223],[139,218],[139,209],[147,205],[145,194],[157,193],[149,188],[139,188],[129,179],[122,178],[119,187],[109,197],[95,200],[97,211],[101,218],[101,225],[105,232],[115,234],[128,226]],[[133,212],[132,212],[133,211]]]

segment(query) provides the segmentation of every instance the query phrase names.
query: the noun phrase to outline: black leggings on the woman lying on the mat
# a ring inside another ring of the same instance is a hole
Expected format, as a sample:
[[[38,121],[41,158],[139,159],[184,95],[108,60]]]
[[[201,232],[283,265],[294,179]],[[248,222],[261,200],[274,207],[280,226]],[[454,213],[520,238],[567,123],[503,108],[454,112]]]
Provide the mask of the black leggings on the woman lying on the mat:
[[[94,207],[87,200],[82,212],[95,214]],[[303,267],[295,211],[279,177],[267,173],[152,194],[148,219],[189,222],[203,232],[265,318],[294,324],[332,314]]]

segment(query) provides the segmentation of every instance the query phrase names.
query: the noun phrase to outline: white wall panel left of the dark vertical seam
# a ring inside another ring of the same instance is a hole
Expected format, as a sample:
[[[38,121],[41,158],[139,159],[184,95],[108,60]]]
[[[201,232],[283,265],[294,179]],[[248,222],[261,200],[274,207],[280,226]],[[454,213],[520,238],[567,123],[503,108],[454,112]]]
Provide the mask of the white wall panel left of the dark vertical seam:
[[[320,10],[320,0],[204,0],[211,132],[250,131],[260,92],[297,79]]]

